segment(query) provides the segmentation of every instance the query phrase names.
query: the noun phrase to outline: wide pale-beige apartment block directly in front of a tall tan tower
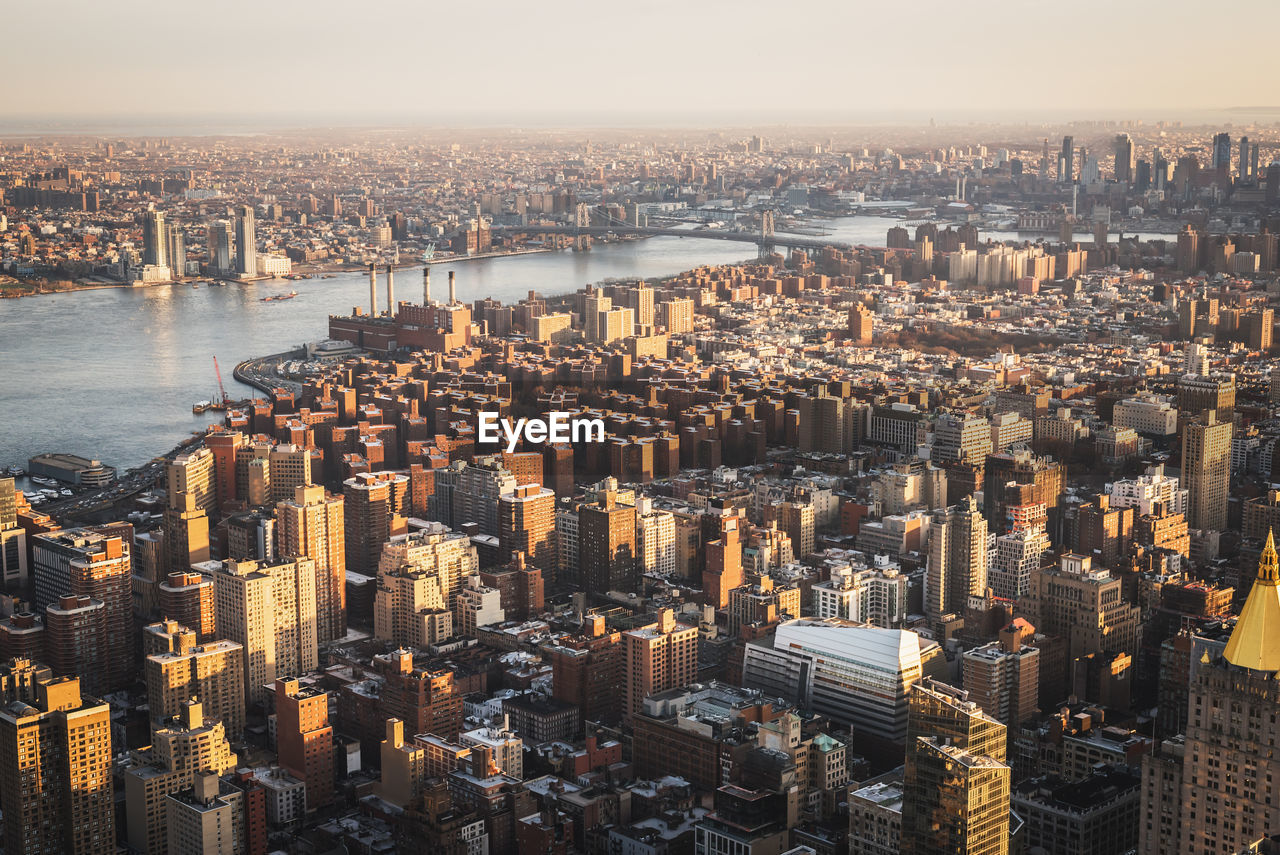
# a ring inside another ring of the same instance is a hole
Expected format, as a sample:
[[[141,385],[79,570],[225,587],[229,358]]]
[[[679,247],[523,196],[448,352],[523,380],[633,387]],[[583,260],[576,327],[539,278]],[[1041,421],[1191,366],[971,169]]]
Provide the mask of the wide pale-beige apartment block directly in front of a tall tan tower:
[[[200,570],[214,577],[218,637],[243,650],[250,704],[261,703],[278,676],[319,667],[315,562],[224,561]]]

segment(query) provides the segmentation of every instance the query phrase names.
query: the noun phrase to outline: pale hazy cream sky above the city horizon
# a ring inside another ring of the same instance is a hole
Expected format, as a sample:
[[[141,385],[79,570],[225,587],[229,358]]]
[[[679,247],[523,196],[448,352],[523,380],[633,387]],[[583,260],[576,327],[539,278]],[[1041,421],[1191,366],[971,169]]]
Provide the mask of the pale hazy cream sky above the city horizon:
[[[956,120],[1270,105],[1276,0],[44,0],[0,114]]]

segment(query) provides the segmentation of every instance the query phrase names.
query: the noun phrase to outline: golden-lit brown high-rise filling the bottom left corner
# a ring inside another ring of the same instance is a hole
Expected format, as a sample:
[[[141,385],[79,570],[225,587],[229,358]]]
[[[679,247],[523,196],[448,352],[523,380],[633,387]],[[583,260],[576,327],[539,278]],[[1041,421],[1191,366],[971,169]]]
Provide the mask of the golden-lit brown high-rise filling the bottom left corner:
[[[14,659],[0,669],[4,851],[111,855],[111,708],[76,677]]]

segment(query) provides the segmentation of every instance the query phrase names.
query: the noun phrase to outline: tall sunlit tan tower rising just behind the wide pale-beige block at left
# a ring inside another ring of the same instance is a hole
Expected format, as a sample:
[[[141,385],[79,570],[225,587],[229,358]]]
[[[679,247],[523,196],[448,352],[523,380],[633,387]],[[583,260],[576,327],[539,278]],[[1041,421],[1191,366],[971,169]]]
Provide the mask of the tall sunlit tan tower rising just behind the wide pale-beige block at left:
[[[340,495],[323,486],[297,486],[275,506],[275,554],[310,558],[316,568],[316,639],[328,644],[347,634],[346,515]]]

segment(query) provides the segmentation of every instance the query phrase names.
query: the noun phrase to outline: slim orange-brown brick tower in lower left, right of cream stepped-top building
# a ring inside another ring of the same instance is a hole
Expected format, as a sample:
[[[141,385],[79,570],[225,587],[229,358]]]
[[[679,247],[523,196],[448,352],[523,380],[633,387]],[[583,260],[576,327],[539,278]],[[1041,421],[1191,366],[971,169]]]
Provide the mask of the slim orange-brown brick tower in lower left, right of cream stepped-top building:
[[[329,694],[294,677],[275,680],[275,751],[280,765],[306,783],[307,810],[333,801],[333,727]]]

